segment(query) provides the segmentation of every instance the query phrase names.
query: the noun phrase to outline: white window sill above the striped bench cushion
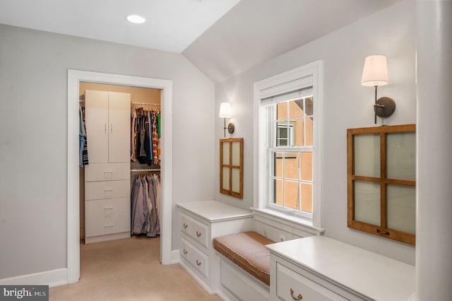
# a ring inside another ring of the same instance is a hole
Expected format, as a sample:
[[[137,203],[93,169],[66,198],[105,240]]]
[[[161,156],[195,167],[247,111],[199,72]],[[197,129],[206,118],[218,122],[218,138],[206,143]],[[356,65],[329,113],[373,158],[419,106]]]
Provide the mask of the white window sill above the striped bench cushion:
[[[254,220],[272,225],[274,228],[291,232],[299,237],[322,235],[324,228],[314,227],[311,220],[295,217],[287,213],[278,212],[268,208],[250,208],[254,213]]]

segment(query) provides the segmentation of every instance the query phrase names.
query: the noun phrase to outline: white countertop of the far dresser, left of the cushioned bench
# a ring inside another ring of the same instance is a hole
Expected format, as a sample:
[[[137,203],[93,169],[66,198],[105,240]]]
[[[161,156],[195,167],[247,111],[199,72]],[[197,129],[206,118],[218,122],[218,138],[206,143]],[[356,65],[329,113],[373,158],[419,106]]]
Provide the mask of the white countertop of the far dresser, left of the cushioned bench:
[[[230,206],[220,201],[177,203],[177,207],[189,211],[199,218],[208,220],[210,223],[253,216],[250,211]]]

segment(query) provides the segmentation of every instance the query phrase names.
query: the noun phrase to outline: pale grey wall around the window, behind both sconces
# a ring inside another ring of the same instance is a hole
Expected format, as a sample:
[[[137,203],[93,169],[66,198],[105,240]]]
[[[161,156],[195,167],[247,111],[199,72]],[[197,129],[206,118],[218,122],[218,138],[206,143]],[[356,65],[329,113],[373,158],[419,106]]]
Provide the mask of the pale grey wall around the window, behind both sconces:
[[[346,129],[374,126],[374,88],[360,84],[364,58],[371,54],[386,54],[390,83],[379,88],[379,95],[396,100],[396,112],[384,124],[415,123],[415,3],[410,0],[217,83],[215,136],[218,140],[223,135],[222,119],[218,118],[220,102],[229,101],[235,123],[232,137],[244,137],[244,199],[218,192],[218,158],[215,198],[241,208],[253,205],[253,84],[323,60],[321,219],[325,235],[414,264],[414,247],[347,228]],[[381,125],[380,120],[377,125]]]

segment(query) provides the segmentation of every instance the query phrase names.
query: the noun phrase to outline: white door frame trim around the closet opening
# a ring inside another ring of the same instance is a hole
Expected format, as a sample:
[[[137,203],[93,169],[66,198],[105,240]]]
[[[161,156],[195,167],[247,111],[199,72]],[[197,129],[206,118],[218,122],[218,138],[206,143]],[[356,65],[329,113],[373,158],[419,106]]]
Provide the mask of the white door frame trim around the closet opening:
[[[105,83],[162,89],[162,220],[160,230],[160,261],[171,262],[172,242],[172,81],[139,76],[68,70],[68,195],[67,195],[67,264],[68,283],[80,278],[80,196],[78,172],[78,98],[79,83]]]

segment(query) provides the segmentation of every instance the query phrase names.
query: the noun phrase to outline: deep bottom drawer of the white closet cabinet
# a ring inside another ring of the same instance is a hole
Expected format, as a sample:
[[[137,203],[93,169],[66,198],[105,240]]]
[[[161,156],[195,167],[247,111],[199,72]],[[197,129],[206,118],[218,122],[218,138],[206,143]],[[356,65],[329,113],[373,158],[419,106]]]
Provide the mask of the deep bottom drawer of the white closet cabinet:
[[[85,237],[130,232],[129,198],[85,201]]]

